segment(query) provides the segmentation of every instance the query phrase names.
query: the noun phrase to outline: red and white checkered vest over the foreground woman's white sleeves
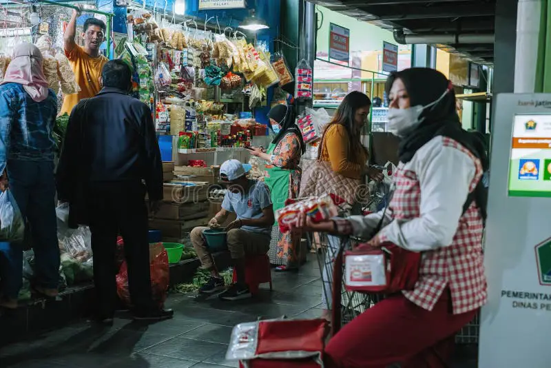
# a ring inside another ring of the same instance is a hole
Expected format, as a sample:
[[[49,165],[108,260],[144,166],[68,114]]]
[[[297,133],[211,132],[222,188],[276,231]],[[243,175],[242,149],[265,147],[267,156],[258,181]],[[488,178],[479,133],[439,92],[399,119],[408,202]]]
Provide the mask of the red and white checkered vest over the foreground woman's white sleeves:
[[[480,181],[480,161],[465,147],[443,137],[445,147],[453,147],[470,156],[476,165],[476,174],[470,184],[470,192]],[[390,209],[393,218],[410,220],[419,217],[421,188],[417,174],[400,164],[395,174],[395,192]],[[486,303],[486,278],[482,256],[482,232],[484,225],[479,209],[472,203],[459,219],[459,227],[449,247],[423,252],[419,280],[413,291],[403,292],[411,302],[424,309],[433,310],[446,285],[450,288],[453,313],[472,311]]]

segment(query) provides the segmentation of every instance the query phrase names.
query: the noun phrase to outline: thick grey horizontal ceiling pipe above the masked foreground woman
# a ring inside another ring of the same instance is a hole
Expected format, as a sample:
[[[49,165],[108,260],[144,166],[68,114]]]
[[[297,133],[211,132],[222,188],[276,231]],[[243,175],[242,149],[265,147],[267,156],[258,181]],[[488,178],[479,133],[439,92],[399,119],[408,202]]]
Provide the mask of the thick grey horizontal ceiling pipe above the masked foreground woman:
[[[441,43],[444,45],[457,45],[458,43],[494,43],[495,35],[485,34],[405,34],[404,30],[395,28],[393,31],[394,39],[402,45],[427,44],[433,45]]]

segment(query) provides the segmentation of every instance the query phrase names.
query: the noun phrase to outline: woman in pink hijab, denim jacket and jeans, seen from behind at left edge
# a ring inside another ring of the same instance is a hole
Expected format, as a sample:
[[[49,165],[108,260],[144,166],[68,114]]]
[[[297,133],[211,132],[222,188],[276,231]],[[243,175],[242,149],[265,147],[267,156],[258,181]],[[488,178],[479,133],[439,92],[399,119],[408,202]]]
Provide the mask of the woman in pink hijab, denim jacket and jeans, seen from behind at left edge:
[[[54,203],[56,143],[52,136],[56,114],[57,97],[48,90],[40,50],[30,43],[18,45],[0,83],[0,172],[7,173],[10,191],[30,225],[37,263],[34,289],[49,297],[58,294],[60,262]],[[18,243],[10,243],[4,253],[8,263],[0,266],[0,305],[15,308],[23,252]]]

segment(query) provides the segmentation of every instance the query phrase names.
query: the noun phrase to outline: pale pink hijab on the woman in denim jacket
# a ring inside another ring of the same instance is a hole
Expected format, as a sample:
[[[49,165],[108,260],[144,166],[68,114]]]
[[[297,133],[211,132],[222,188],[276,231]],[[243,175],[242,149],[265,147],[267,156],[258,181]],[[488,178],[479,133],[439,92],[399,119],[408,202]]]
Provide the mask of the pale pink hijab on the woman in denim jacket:
[[[0,84],[19,83],[34,101],[48,97],[48,82],[42,71],[42,54],[31,43],[17,45],[13,59],[8,65],[4,80]]]

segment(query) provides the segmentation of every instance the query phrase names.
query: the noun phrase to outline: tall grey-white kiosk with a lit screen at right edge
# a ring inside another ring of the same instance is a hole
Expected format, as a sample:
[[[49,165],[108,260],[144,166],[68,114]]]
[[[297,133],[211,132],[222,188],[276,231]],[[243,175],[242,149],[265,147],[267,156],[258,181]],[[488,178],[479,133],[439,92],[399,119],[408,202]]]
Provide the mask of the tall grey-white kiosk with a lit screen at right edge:
[[[499,94],[496,103],[479,367],[548,368],[551,94]]]

